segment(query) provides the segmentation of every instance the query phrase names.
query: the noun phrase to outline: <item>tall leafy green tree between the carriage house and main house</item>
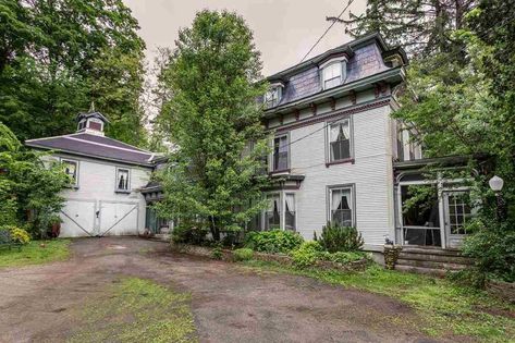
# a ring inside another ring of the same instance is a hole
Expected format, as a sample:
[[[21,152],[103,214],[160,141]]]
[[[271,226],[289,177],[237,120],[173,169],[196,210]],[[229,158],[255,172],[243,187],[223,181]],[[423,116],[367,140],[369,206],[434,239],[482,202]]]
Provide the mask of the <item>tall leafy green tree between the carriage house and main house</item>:
[[[261,62],[245,21],[226,11],[198,12],[176,46],[162,76],[173,97],[160,120],[177,150],[161,175],[165,199],[159,208],[200,220],[219,240],[262,207]]]

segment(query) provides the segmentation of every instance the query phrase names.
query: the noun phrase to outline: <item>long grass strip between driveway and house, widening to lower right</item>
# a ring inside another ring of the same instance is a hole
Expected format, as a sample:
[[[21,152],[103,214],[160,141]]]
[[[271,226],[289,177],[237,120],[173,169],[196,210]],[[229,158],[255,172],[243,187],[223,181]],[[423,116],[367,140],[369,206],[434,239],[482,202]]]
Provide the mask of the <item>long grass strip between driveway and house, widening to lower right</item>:
[[[449,280],[385,270],[377,265],[364,272],[304,270],[255,260],[245,265],[397,298],[416,310],[421,319],[417,326],[428,335],[467,335],[483,342],[515,342],[515,306]]]

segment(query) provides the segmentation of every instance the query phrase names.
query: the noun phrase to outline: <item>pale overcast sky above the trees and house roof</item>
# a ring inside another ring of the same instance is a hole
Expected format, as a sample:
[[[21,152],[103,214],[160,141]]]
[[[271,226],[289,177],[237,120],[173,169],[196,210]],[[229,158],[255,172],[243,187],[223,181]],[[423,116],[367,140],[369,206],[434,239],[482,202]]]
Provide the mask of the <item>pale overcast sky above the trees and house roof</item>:
[[[139,21],[147,44],[147,58],[157,47],[175,46],[177,32],[189,26],[203,9],[231,10],[241,14],[254,32],[261,51],[263,75],[271,75],[301,61],[326,30],[326,16],[336,16],[347,0],[125,0]],[[359,14],[366,0],[354,0],[350,10]],[[345,13],[344,17],[347,17]],[[350,40],[342,24],[335,24],[310,54],[323,52]]]

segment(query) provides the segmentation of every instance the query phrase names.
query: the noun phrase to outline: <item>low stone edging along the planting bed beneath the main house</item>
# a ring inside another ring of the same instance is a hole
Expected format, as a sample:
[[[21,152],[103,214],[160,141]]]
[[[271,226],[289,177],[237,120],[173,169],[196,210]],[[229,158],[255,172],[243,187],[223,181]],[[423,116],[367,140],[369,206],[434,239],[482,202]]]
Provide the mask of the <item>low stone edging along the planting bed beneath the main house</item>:
[[[201,256],[201,257],[211,257],[212,248],[206,246],[196,246],[189,244],[177,244],[171,243],[172,252],[177,252],[182,254]],[[222,260],[224,261],[234,261],[233,250],[230,249],[222,249]],[[285,266],[292,266],[293,259],[287,255],[279,255],[279,254],[265,254],[265,253],[257,253],[254,252],[253,259],[261,260],[261,261],[274,261]],[[365,270],[368,265],[367,259],[361,259],[358,261],[350,262],[346,265],[332,262],[332,261],[317,261],[314,266],[320,269],[335,269],[341,271],[358,271]]]

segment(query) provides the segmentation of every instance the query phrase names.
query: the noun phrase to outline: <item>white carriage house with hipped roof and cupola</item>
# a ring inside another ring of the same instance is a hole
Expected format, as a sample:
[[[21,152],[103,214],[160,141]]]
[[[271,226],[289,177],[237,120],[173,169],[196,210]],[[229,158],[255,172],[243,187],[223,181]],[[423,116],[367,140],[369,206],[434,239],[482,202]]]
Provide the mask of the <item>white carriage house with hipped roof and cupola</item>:
[[[146,201],[140,193],[154,170],[152,152],[105,137],[108,120],[99,112],[81,113],[77,132],[26,140],[51,150],[73,184],[63,192],[61,236],[135,235],[143,232]]]

